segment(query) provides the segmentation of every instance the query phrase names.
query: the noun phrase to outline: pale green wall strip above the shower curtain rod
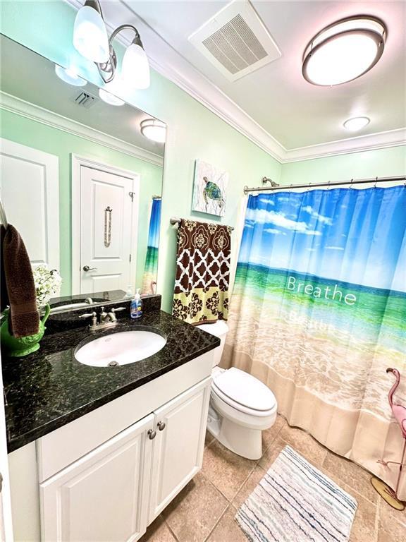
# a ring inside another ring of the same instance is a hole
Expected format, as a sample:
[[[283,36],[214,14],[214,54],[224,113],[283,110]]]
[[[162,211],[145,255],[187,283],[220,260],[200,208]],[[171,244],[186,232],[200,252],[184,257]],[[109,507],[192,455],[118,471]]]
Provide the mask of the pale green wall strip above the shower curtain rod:
[[[283,164],[281,182],[321,183],[406,174],[406,145]]]

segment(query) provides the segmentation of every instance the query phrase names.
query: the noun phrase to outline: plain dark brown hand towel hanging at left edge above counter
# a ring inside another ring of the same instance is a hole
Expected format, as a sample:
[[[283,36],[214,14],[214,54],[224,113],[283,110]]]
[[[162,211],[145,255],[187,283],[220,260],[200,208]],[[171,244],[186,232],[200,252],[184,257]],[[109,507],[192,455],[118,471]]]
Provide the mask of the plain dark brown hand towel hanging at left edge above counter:
[[[3,226],[1,227],[4,228]],[[8,327],[13,337],[27,337],[39,331],[39,313],[35,293],[34,277],[27,249],[15,227],[8,224],[1,235],[1,276],[6,283],[6,296],[10,305]],[[4,289],[2,289],[4,294]],[[6,299],[2,296],[1,305]]]

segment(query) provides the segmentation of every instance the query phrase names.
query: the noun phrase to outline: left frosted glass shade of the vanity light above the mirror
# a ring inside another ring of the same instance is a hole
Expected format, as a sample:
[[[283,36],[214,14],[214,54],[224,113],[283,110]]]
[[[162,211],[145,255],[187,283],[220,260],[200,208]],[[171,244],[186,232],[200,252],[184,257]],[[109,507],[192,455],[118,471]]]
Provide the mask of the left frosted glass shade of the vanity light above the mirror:
[[[109,37],[97,9],[86,5],[80,8],[73,28],[73,45],[88,60],[99,63],[109,60]]]

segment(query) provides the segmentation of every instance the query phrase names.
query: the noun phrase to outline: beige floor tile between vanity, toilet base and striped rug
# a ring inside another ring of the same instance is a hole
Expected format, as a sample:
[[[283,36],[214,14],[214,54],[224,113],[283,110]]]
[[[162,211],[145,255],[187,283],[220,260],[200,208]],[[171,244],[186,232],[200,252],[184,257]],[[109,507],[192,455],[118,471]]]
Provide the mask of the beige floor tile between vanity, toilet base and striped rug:
[[[202,473],[231,501],[256,464],[251,459],[230,452],[214,440],[204,450]]]

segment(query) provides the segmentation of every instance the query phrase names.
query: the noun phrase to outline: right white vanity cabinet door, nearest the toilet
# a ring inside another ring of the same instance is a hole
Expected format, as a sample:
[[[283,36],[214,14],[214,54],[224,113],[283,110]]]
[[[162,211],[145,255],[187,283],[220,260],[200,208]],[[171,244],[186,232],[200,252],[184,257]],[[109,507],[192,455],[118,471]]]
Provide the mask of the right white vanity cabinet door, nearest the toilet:
[[[202,467],[210,387],[211,377],[155,411],[148,524]]]

